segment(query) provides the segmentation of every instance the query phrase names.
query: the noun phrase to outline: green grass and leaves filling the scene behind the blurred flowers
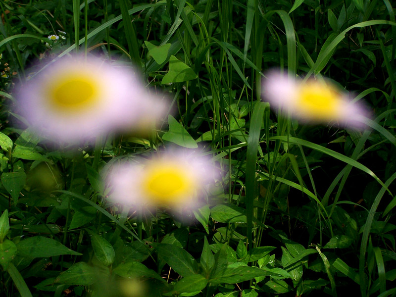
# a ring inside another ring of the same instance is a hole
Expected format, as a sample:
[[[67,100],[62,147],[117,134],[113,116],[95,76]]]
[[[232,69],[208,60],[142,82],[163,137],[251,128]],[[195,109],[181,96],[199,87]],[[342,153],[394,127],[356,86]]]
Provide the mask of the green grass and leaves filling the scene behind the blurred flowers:
[[[392,3],[133,2],[0,2],[0,295],[394,296]],[[15,128],[14,83],[75,51],[133,64],[177,123],[74,153]],[[353,91],[371,129],[270,111],[260,82],[272,67]],[[192,221],[106,201],[101,168],[172,143],[222,172]]]

